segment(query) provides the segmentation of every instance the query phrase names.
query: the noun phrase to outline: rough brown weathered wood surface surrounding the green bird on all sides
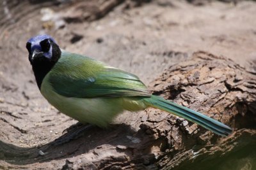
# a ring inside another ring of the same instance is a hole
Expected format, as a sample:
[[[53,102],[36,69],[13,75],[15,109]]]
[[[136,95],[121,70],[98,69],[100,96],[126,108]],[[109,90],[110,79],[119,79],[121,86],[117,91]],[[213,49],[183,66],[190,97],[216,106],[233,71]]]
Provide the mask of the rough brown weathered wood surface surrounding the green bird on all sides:
[[[256,169],[255,3],[145,2],[0,4],[0,169]],[[81,127],[63,132],[76,121],[36,87],[25,46],[42,32],[65,50],[137,74],[154,94],[234,133],[220,138],[149,108],[61,144]],[[198,49],[216,55],[191,55]]]

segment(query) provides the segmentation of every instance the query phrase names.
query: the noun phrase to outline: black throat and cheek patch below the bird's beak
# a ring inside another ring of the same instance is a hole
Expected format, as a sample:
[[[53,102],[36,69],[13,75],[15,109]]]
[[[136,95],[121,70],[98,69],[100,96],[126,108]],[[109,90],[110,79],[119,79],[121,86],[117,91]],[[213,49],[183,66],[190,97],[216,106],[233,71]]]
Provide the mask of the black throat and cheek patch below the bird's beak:
[[[35,55],[33,60],[31,60],[31,54],[29,54],[29,60],[32,65],[36,83],[38,88],[41,90],[42,82],[49,71],[51,71],[52,67],[58,62],[61,56],[61,50],[58,45],[55,43],[51,43],[52,45],[52,57],[48,59],[42,53]]]

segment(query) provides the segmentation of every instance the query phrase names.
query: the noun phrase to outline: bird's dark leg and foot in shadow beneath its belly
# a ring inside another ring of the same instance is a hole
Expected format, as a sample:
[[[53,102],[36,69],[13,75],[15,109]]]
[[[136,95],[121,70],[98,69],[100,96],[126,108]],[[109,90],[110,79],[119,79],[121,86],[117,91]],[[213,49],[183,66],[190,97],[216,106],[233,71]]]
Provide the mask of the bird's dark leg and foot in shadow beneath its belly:
[[[84,131],[92,128],[91,124],[81,124],[77,123],[65,129],[63,132],[67,131],[63,136],[53,141],[52,145],[62,145],[64,143],[68,143],[71,140],[80,138],[84,135]]]

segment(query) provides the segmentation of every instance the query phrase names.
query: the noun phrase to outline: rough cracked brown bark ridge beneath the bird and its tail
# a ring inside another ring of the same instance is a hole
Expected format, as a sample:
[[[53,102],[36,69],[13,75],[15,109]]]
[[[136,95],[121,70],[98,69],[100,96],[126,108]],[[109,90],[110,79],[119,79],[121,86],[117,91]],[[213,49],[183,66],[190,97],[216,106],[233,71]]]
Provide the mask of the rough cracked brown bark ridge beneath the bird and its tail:
[[[0,168],[253,169],[255,87],[255,74],[239,64],[211,53],[196,52],[191,59],[170,66],[151,83],[151,89],[154,94],[230,125],[234,132],[227,138],[148,108],[129,113],[131,126],[92,127],[84,136],[62,145],[58,140],[72,135],[76,127],[55,141],[33,148],[1,141]]]

